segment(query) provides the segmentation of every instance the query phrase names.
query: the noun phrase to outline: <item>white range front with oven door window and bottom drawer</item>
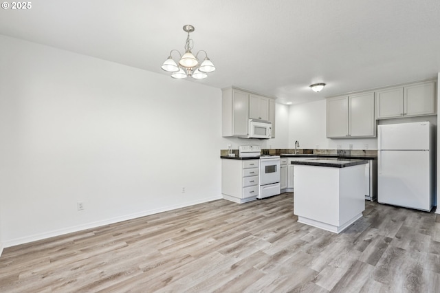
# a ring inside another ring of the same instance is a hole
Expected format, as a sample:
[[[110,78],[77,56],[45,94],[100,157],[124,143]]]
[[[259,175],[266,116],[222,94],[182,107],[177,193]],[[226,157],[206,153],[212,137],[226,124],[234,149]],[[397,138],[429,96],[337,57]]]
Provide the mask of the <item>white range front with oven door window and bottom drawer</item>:
[[[260,157],[260,190],[256,198],[262,199],[281,193],[280,156],[262,155]]]

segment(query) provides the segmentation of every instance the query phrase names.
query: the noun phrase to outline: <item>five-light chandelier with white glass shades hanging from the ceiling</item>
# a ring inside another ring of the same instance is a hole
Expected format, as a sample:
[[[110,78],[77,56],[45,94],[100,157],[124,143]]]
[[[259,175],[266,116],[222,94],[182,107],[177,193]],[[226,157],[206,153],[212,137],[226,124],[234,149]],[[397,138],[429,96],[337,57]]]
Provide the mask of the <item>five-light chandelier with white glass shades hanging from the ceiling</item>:
[[[182,56],[177,50],[171,50],[170,56],[168,56],[164,64],[162,64],[162,69],[166,72],[171,72],[171,77],[173,78],[181,79],[186,78],[186,76],[191,76],[194,79],[203,79],[208,77],[208,73],[215,70],[214,64],[209,60],[206,51],[200,50],[195,56],[192,54],[191,50],[194,42],[190,39],[190,32],[194,32],[194,30],[192,25],[184,25],[184,31],[188,32],[184,55]],[[171,56],[173,52],[179,54],[180,59],[178,65]],[[200,52],[205,54],[205,58],[201,64],[198,58]]]

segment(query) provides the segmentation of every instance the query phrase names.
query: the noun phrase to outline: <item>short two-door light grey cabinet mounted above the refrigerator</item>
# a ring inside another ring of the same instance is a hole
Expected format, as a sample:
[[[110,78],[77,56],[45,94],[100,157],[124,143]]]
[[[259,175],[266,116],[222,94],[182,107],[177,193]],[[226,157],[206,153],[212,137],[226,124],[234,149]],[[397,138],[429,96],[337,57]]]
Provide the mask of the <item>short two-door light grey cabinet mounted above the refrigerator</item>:
[[[435,114],[435,81],[376,91],[376,119]]]

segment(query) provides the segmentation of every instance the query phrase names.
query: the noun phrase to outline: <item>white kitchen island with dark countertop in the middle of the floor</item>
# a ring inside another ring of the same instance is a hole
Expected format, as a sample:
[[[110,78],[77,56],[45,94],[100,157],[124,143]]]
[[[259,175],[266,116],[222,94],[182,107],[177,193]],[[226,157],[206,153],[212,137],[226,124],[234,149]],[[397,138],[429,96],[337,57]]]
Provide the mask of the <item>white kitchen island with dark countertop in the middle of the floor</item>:
[[[368,160],[305,158],[292,162],[294,214],[298,222],[340,233],[365,209],[364,164]]]

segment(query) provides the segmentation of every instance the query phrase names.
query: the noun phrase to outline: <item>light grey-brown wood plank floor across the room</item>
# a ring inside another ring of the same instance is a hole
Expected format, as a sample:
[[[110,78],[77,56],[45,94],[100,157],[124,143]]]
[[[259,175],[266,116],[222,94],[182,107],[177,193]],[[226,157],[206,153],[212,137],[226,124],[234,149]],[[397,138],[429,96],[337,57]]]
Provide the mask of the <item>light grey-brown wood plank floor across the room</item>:
[[[220,199],[6,248],[0,292],[439,292],[440,215],[366,202],[340,235],[292,193]]]

